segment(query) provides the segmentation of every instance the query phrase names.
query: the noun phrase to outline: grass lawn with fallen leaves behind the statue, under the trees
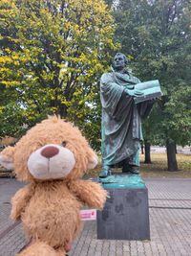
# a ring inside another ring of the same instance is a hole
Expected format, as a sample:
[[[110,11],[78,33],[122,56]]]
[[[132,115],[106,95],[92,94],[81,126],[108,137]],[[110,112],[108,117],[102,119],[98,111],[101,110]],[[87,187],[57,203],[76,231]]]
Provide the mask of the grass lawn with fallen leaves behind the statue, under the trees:
[[[152,164],[144,164],[144,155],[140,155],[140,175],[142,177],[190,177],[191,178],[191,154],[177,154],[179,172],[167,171],[167,156],[165,153],[152,153]],[[91,171],[88,175],[97,176],[101,166]],[[121,172],[120,169],[115,169],[116,172]]]

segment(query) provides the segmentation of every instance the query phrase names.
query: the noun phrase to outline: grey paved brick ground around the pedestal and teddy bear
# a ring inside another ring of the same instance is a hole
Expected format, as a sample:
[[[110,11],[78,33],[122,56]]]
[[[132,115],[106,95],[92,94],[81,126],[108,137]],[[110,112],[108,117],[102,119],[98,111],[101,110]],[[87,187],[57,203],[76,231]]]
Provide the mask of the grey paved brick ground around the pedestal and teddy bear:
[[[191,179],[145,179],[149,191],[151,241],[96,240],[96,221],[86,221],[70,256],[190,256]],[[0,179],[0,256],[25,244],[19,222],[9,220],[11,196],[22,186]]]

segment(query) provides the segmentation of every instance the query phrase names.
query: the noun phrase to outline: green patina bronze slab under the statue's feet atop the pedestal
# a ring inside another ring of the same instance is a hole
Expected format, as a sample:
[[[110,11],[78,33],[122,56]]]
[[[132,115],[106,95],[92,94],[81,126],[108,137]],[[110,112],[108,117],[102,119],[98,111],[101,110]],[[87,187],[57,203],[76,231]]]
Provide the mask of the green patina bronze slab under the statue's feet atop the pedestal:
[[[140,175],[108,175],[104,178],[99,178],[105,189],[122,189],[122,188],[145,188],[145,184]]]

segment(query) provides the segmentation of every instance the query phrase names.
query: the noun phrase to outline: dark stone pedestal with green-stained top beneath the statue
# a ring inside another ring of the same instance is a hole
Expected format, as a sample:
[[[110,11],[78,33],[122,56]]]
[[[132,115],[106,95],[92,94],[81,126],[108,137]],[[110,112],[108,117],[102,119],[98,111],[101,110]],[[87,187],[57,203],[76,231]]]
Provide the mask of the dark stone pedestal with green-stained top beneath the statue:
[[[97,239],[149,240],[148,191],[141,177],[112,175],[101,182],[110,198],[97,212]]]

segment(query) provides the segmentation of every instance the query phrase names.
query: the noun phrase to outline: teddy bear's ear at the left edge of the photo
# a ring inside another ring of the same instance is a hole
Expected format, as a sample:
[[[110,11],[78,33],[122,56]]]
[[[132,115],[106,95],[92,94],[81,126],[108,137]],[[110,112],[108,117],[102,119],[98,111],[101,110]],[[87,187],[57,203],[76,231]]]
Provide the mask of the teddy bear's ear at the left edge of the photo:
[[[0,152],[0,165],[8,170],[13,169],[14,147],[7,147]]]

